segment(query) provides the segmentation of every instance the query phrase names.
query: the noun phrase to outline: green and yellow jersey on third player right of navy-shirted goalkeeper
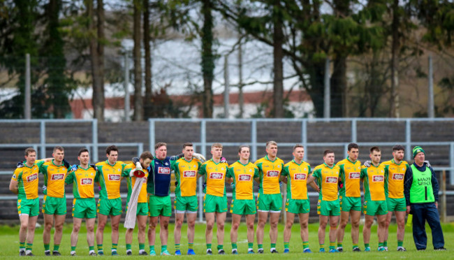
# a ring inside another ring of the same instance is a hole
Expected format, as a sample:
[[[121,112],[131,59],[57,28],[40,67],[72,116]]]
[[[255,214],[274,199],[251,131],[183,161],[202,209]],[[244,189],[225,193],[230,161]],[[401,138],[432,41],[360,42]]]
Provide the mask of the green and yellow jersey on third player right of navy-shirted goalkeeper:
[[[258,178],[258,168],[251,162],[242,164],[235,161],[228,166],[227,178],[233,178],[235,189],[233,199],[254,199],[254,178]]]

